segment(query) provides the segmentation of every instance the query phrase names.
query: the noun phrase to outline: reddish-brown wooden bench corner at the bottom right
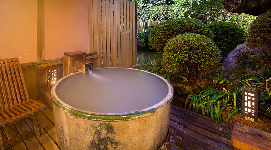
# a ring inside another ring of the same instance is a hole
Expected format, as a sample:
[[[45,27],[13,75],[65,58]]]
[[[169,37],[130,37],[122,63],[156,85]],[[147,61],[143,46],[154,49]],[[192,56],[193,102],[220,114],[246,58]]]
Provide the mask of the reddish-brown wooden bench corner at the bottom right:
[[[271,149],[271,134],[235,122],[231,145],[235,149]]]

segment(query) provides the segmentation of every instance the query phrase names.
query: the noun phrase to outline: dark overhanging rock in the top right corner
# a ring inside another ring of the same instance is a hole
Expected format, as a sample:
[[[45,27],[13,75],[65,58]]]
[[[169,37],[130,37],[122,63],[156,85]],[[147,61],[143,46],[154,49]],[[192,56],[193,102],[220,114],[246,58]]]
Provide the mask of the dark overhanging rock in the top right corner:
[[[271,9],[271,0],[223,0],[221,6],[229,12],[258,16]]]

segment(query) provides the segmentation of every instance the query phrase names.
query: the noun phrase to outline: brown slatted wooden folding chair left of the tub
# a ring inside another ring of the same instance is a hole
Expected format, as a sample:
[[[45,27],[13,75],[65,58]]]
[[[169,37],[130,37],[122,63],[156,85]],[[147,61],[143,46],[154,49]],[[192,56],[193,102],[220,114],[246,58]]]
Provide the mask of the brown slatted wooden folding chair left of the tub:
[[[36,131],[38,137],[44,135],[37,114],[45,110],[46,106],[29,99],[18,58],[0,59],[0,85],[0,129],[27,117],[31,117],[34,123],[30,130],[5,142],[0,131],[0,148],[4,149],[4,145],[33,131]]]

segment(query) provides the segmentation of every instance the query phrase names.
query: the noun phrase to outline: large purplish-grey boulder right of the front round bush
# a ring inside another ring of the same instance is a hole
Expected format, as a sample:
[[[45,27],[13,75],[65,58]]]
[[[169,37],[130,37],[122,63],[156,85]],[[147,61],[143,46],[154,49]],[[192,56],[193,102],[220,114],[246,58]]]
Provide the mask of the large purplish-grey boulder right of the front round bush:
[[[257,59],[259,54],[257,49],[248,48],[246,42],[238,45],[223,61],[224,73],[228,75],[236,73],[251,75],[264,73],[266,70],[262,67],[263,63]]]

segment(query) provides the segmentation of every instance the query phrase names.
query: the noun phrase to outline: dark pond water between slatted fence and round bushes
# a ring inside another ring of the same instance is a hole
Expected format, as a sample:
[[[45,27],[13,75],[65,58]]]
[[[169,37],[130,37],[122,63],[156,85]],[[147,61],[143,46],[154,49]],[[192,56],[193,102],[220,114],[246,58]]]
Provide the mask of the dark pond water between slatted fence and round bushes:
[[[150,63],[153,59],[161,59],[163,58],[163,54],[157,53],[157,52],[149,52],[149,51],[137,51],[137,63],[138,64],[144,64],[144,63]]]

